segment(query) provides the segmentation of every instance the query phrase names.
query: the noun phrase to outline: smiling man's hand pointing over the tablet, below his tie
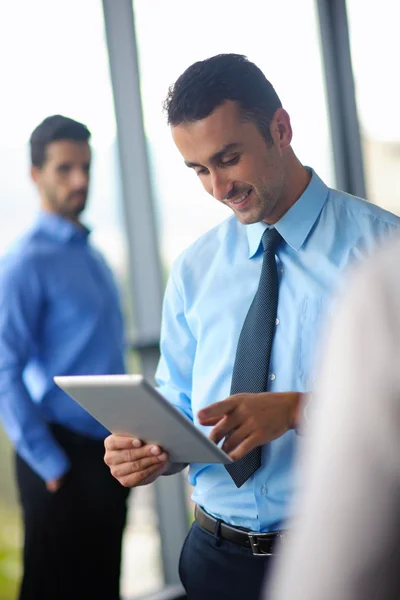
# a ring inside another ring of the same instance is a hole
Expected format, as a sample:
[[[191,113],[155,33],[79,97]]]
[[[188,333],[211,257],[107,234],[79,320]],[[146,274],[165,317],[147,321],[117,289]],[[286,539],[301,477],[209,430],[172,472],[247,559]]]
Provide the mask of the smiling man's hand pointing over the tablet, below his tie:
[[[218,444],[226,438],[222,449],[239,460],[293,429],[300,396],[298,392],[235,394],[203,408],[198,418],[201,425],[215,425],[210,439]]]

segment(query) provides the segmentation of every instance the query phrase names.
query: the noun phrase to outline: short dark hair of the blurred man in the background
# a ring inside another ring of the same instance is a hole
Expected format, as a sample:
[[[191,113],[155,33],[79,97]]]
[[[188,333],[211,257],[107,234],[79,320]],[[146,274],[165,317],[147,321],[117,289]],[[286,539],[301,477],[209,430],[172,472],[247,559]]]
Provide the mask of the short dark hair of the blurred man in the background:
[[[62,115],[47,117],[34,129],[29,140],[32,165],[35,167],[44,165],[46,162],[46,149],[51,142],[58,140],[87,142],[90,135],[91,133],[86,125],[74,121],[74,119]]]

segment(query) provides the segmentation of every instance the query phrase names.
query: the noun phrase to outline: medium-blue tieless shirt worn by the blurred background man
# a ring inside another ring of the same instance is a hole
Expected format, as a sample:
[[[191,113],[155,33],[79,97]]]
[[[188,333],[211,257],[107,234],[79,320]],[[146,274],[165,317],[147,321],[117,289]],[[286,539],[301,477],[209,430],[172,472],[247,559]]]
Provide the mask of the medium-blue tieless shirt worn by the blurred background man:
[[[107,435],[53,376],[124,372],[117,289],[88,235],[43,212],[0,261],[0,418],[17,452],[44,480],[69,468],[48,423],[93,438]]]

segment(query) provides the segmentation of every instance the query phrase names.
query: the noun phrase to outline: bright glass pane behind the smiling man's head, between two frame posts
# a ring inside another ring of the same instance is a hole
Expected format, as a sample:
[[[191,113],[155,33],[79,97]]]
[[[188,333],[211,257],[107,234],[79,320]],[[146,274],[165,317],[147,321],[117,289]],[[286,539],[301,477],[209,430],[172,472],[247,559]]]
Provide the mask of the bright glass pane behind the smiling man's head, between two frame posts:
[[[145,131],[167,267],[230,214],[183,166],[161,110],[169,85],[196,60],[236,52],[254,61],[291,115],[298,157],[334,184],[314,4],[248,0],[243,10],[241,0],[134,0]]]

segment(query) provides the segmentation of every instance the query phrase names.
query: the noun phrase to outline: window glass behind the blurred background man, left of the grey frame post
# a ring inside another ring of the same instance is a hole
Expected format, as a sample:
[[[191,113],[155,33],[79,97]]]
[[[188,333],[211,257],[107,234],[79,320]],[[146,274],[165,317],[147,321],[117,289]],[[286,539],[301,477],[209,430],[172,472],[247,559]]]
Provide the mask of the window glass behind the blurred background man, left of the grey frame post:
[[[0,0],[0,56],[0,254],[31,225],[39,205],[29,177],[28,140],[32,130],[46,116],[55,113],[82,121],[92,132],[93,147],[91,190],[84,220],[93,229],[93,242],[114,269],[130,332],[132,302],[102,3],[99,0]],[[128,364],[138,367],[131,355]],[[1,428],[0,453],[3,457],[0,465],[0,598],[11,600],[16,597],[20,574],[22,532],[11,448]],[[149,494],[151,496],[151,492]],[[135,509],[130,511],[124,539],[122,589],[126,597],[132,597],[138,590],[158,587],[160,580],[155,558],[159,541],[152,501],[141,501],[139,494],[132,494],[131,500],[133,497]],[[131,569],[137,560],[135,555],[140,556],[140,570],[135,570],[133,581]]]

